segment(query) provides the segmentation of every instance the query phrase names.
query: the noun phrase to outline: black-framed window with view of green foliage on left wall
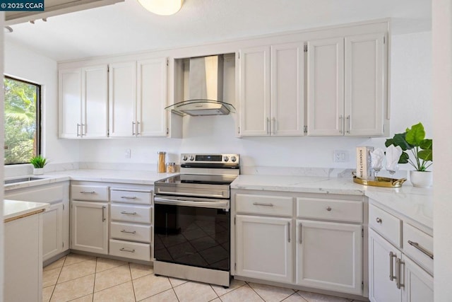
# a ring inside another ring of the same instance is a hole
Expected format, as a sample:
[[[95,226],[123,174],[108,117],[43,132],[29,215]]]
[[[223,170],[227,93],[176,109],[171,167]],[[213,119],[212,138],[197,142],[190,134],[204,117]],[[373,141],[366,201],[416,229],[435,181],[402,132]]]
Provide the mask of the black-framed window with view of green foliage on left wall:
[[[30,163],[40,154],[41,86],[4,77],[5,164]]]

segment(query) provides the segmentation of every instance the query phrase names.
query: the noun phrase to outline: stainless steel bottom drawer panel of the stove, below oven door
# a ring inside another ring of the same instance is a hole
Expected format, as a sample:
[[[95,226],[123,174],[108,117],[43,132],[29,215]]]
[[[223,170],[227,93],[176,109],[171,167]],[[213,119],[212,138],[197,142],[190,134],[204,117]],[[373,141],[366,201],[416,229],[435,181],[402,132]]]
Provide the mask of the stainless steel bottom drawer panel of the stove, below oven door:
[[[167,277],[187,279],[192,281],[230,286],[230,272],[218,269],[206,269],[203,267],[191,267],[189,265],[178,265],[176,263],[154,260],[154,274]]]

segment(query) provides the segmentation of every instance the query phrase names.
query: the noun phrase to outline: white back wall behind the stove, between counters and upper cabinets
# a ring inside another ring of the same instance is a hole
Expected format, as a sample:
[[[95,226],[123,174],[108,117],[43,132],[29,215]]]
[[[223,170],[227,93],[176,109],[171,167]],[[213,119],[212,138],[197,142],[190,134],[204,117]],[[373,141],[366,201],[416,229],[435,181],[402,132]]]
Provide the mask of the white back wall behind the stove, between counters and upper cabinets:
[[[391,133],[422,122],[432,137],[431,32],[394,35],[391,51]],[[227,88],[225,88],[227,89]],[[355,147],[384,146],[385,139],[349,137],[235,137],[235,115],[184,117],[184,139],[140,138],[81,141],[80,161],[155,163],[157,151],[179,161],[186,152],[234,152],[243,165],[355,168]],[[124,153],[131,149],[131,158]],[[334,163],[333,151],[347,150],[347,163]],[[409,166],[400,167],[409,170]]]

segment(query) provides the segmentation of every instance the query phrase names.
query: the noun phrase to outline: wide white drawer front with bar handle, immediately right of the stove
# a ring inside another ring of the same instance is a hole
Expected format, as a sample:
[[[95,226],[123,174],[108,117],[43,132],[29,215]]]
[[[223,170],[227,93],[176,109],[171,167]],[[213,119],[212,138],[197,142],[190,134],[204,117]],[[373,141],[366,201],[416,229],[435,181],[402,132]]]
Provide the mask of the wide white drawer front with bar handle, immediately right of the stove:
[[[237,213],[292,216],[292,197],[237,194]]]

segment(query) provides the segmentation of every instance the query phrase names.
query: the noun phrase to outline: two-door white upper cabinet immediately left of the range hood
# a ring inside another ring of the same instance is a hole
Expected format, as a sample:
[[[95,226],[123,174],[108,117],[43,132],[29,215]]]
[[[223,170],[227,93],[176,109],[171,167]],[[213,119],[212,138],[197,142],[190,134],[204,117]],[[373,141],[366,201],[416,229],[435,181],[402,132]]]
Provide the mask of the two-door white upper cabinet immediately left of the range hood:
[[[110,137],[166,137],[166,62],[158,58],[110,64]]]

